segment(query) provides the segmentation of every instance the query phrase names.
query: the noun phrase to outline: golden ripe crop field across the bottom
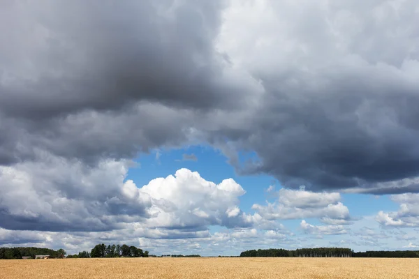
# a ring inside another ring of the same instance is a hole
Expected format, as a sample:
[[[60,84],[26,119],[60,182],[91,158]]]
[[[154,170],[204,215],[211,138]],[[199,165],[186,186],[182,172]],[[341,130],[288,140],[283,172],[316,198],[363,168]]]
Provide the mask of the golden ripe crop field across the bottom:
[[[0,260],[1,279],[419,278],[419,259],[113,258]]]

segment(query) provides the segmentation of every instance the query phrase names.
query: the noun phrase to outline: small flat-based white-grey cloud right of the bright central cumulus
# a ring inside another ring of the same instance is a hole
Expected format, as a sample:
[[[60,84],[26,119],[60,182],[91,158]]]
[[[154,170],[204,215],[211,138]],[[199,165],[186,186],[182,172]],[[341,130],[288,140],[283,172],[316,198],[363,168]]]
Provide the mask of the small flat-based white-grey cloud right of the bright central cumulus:
[[[265,206],[253,204],[260,216],[267,220],[320,218],[323,223],[348,224],[349,210],[340,202],[339,193],[312,193],[305,190],[280,189],[278,200]]]

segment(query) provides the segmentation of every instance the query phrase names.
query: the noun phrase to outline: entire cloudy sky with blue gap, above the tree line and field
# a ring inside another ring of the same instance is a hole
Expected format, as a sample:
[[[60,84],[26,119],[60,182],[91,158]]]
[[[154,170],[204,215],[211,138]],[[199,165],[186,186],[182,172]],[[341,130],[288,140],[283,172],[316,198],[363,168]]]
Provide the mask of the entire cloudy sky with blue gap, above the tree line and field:
[[[1,1],[0,245],[419,250],[415,0]]]

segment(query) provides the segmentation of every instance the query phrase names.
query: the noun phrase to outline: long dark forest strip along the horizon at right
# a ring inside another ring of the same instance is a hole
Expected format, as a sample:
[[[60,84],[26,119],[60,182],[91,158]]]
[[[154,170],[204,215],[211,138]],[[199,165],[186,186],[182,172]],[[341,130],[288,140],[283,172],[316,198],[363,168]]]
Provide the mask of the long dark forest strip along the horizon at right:
[[[419,257],[419,251],[353,252],[349,248],[259,249],[244,251],[240,257]]]

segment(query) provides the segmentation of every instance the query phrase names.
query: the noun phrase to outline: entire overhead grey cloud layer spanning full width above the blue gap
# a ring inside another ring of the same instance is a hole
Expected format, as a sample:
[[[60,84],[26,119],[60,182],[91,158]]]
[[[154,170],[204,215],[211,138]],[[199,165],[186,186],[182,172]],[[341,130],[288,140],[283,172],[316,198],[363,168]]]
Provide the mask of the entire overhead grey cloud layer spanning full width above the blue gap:
[[[417,1],[278,1],[258,24],[225,1],[0,5],[3,166],[207,143],[289,188],[418,192]]]

